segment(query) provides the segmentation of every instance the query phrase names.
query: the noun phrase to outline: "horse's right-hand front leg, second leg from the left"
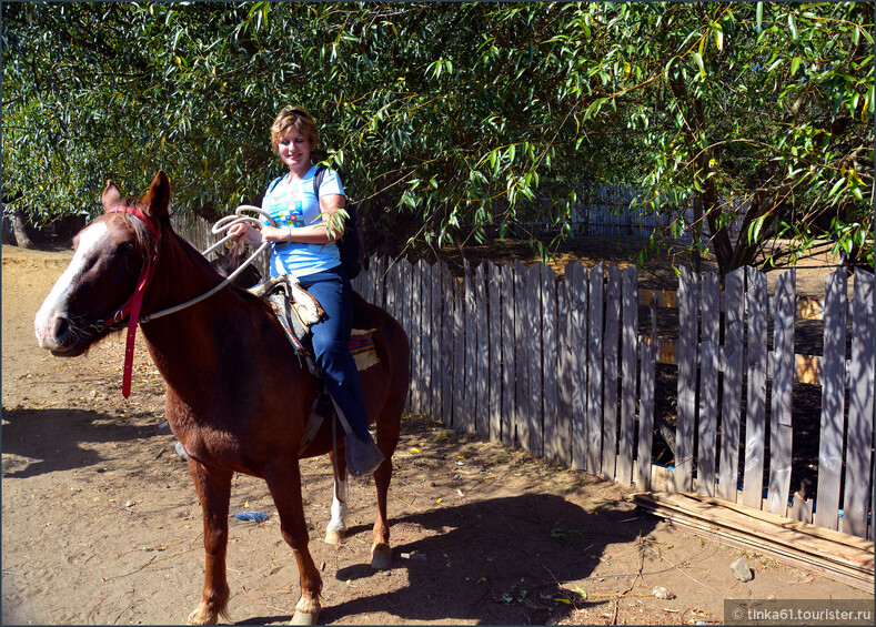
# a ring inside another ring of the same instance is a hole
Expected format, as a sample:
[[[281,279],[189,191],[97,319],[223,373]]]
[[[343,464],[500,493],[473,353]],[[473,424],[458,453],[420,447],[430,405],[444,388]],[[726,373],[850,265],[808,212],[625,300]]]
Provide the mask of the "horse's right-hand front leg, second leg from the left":
[[[322,579],[308,549],[308,525],[301,499],[301,471],[298,459],[289,466],[276,467],[269,476],[268,487],[280,515],[283,539],[292,547],[301,576],[301,598],[295,605],[293,625],[315,625],[320,617]]]

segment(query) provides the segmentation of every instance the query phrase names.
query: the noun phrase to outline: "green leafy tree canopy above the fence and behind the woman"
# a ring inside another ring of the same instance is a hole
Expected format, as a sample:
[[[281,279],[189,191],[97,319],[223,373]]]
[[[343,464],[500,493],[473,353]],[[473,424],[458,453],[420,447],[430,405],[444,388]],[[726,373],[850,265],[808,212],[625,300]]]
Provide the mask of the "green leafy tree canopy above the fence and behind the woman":
[[[572,234],[584,180],[635,188],[677,218],[655,245],[702,232],[691,252],[723,271],[776,236],[872,250],[873,3],[2,11],[3,192],[43,220],[159,168],[183,213],[259,204],[280,172],[270,123],[294,102],[387,252],[533,215]]]

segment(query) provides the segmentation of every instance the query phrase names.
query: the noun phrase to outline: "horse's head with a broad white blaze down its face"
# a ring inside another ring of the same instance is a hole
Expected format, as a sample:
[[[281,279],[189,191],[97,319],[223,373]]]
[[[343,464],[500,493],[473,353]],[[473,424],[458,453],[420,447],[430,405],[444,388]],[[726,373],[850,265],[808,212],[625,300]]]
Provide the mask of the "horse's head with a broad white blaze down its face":
[[[157,250],[160,223],[168,216],[170,181],[159,172],[142,199],[124,198],[108,181],[101,200],[103,215],[75,235],[70,265],[37,312],[37,340],[54,355],[80,355],[120,328],[142,270]]]

